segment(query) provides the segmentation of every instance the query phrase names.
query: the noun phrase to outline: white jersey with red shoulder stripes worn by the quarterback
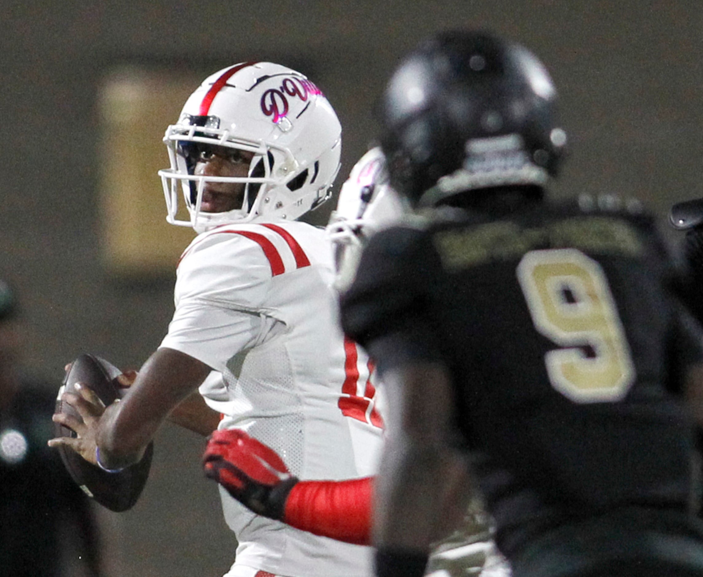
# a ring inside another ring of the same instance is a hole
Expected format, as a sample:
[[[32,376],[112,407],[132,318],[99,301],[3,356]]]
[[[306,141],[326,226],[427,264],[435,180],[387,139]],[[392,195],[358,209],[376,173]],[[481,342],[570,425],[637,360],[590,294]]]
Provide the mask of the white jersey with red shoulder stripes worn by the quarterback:
[[[373,366],[337,319],[330,243],[302,222],[231,224],[198,235],[179,262],[163,347],[214,372],[200,393],[271,446],[302,479],[375,474],[382,421]],[[370,548],[250,512],[220,488],[235,564],[276,575],[370,576]]]

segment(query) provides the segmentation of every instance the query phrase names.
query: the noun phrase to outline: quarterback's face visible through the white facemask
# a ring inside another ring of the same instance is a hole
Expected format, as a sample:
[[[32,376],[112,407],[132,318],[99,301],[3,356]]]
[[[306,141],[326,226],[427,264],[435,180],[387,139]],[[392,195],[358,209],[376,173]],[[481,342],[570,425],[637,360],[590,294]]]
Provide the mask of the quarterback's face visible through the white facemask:
[[[195,174],[208,177],[246,177],[254,153],[226,146],[208,146],[200,151]],[[205,182],[200,210],[204,213],[225,213],[241,208],[243,182]]]

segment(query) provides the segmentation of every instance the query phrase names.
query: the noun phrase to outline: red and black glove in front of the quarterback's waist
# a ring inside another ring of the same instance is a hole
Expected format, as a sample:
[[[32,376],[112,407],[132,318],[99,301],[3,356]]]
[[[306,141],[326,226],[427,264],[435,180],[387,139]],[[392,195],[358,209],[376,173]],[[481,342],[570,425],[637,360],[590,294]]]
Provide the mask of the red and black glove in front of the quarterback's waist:
[[[205,476],[254,513],[283,519],[285,500],[298,482],[283,459],[241,429],[214,431],[203,455]]]

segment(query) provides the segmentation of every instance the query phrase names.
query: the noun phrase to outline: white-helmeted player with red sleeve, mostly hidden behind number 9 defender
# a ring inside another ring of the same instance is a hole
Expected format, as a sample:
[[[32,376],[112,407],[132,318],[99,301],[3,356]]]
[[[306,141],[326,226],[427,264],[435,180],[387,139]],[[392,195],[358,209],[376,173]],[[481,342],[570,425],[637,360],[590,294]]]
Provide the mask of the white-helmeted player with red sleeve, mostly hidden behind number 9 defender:
[[[337,208],[330,216],[328,236],[335,248],[335,286],[343,291],[354,280],[361,249],[370,236],[383,227],[398,222],[407,212],[403,199],[389,186],[385,157],[380,147],[371,148],[354,165],[342,185]],[[252,455],[257,455],[253,460]],[[286,523],[318,535],[368,543],[370,539],[371,498],[373,478],[353,482],[325,481],[295,482],[286,476],[285,458],[263,448],[256,440],[227,431],[209,443],[206,470],[216,462],[227,462],[238,470],[236,486],[226,480],[223,486],[243,502],[262,507],[264,514],[276,516]],[[278,469],[285,480],[257,476],[261,460],[271,469]],[[262,492],[258,486],[281,486]],[[285,487],[285,488],[284,488]],[[256,495],[255,503],[252,495]],[[314,495],[314,496],[311,496]],[[451,521],[449,521],[451,523]],[[508,577],[510,568],[491,540],[491,524],[478,498],[472,498],[467,512],[456,531],[441,538],[427,565],[428,577]]]

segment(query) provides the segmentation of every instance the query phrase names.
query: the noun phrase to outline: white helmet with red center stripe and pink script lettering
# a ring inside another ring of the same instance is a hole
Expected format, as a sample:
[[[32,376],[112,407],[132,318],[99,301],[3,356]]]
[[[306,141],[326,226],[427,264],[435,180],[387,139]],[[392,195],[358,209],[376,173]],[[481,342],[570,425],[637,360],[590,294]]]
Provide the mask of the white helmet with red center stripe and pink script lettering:
[[[160,170],[172,224],[204,232],[221,224],[295,220],[330,197],[340,167],[342,127],[304,75],[269,62],[240,63],[205,79],[186,101],[164,142],[171,167]],[[195,175],[204,145],[253,153],[247,177]],[[244,182],[241,208],[200,210],[205,182]],[[179,219],[183,194],[189,220]]]

